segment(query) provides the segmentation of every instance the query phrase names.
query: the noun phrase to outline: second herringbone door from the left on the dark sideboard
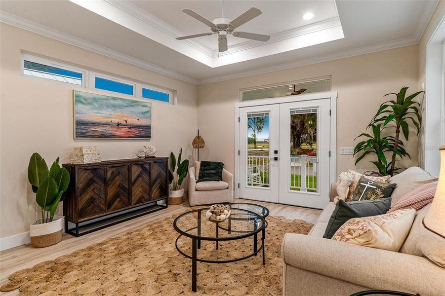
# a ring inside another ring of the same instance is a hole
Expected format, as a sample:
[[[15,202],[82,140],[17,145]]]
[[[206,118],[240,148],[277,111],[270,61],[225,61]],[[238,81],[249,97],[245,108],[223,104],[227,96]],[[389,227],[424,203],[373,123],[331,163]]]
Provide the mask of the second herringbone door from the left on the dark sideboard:
[[[114,211],[130,204],[128,189],[129,166],[107,168],[107,211]]]

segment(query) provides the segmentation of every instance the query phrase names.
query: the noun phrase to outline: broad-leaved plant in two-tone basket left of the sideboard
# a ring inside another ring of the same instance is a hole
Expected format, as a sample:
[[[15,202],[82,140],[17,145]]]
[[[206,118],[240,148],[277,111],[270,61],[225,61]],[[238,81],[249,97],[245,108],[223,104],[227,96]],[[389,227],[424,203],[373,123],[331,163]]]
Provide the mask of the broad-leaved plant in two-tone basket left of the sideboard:
[[[59,157],[48,170],[45,160],[39,153],[33,153],[28,165],[28,181],[36,202],[40,206],[41,219],[30,225],[31,245],[42,248],[62,240],[63,217],[54,217],[59,202],[65,198],[70,184],[70,174],[60,167]]]

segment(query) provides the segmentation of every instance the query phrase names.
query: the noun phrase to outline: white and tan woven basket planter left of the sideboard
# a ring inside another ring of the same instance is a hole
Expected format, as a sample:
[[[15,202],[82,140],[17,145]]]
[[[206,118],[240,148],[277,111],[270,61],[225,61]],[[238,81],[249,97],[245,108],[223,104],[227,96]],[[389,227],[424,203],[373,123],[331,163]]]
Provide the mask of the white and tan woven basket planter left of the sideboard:
[[[44,248],[57,244],[62,240],[63,217],[54,217],[52,222],[41,223],[41,219],[29,227],[31,245],[34,248]]]

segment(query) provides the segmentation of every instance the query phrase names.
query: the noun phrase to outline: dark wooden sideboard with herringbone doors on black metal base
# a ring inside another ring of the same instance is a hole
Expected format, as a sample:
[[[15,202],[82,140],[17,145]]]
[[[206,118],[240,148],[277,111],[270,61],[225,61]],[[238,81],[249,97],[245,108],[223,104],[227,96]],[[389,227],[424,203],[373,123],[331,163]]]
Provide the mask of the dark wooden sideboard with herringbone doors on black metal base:
[[[74,236],[167,207],[167,157],[63,167],[71,175],[68,195],[63,201],[65,232]],[[159,204],[162,200],[165,203]]]

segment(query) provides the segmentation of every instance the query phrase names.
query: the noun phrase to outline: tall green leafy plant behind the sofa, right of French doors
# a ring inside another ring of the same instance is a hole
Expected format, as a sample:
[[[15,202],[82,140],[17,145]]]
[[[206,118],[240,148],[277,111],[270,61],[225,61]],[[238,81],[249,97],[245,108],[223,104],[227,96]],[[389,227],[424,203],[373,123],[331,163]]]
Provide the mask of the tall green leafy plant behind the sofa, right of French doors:
[[[422,92],[406,96],[407,89],[408,87],[403,87],[398,93],[385,95],[395,95],[396,99],[380,105],[367,127],[367,129],[371,129],[372,135],[362,133],[357,137],[364,138],[364,140],[358,143],[354,149],[354,156],[359,155],[356,164],[371,153],[377,158],[376,161],[371,162],[376,166],[380,175],[393,176],[403,169],[396,167],[396,161],[410,156],[405,150],[401,135],[405,140],[408,140],[410,123],[414,125],[416,133],[419,134],[422,122],[419,112],[420,104],[413,101]],[[382,134],[386,136],[382,137]],[[390,161],[387,160],[387,156],[390,157]],[[397,159],[397,156],[400,159]]]

